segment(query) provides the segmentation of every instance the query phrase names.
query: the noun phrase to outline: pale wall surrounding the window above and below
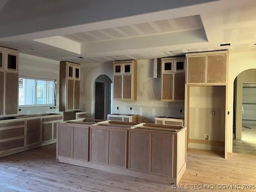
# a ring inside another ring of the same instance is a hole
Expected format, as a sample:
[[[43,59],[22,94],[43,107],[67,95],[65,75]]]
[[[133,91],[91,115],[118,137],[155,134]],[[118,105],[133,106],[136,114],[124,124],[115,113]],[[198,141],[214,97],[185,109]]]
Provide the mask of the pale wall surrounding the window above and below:
[[[45,107],[22,107],[19,114],[60,113],[59,112],[59,68],[60,62],[20,53],[20,76],[57,80],[56,109]]]

